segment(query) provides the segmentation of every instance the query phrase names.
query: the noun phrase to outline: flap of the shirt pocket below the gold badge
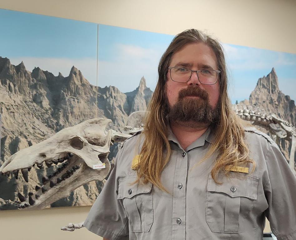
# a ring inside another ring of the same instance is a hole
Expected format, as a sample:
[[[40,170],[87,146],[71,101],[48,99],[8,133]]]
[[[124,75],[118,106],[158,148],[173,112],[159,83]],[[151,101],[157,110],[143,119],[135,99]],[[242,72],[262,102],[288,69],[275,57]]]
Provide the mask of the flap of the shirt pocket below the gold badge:
[[[141,183],[135,183],[131,185],[131,183],[135,182],[136,180],[137,175],[119,179],[117,199],[122,199],[125,197],[132,198],[137,194],[151,192],[152,183],[147,183],[145,185]]]

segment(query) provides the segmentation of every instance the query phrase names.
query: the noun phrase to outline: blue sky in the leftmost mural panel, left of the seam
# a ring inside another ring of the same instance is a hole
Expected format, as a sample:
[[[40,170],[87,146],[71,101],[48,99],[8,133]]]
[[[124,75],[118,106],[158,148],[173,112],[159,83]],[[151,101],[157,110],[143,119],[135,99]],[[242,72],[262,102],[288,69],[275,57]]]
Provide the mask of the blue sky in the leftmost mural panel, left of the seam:
[[[55,76],[72,66],[96,85],[97,24],[0,9],[0,56]]]

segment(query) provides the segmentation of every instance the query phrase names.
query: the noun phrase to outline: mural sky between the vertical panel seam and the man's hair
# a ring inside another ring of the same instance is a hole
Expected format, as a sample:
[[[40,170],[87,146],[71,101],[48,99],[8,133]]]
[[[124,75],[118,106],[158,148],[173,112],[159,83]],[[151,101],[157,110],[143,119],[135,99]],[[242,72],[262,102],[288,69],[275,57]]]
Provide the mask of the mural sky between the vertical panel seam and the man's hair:
[[[142,78],[154,90],[157,66],[173,36],[99,25],[98,86],[116,86],[121,92],[135,90]]]

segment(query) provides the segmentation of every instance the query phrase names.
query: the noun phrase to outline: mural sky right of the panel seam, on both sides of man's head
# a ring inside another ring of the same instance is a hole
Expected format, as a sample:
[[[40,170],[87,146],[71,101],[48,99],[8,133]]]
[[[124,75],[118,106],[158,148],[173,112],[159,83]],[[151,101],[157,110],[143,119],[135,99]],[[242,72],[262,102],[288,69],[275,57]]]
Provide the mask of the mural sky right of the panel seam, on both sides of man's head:
[[[157,66],[173,36],[122,27],[99,25],[98,85],[116,86],[121,92],[134,90],[142,76],[154,90]],[[279,88],[296,99],[296,55],[223,44],[229,69],[231,100],[248,99],[258,78],[274,67]]]

